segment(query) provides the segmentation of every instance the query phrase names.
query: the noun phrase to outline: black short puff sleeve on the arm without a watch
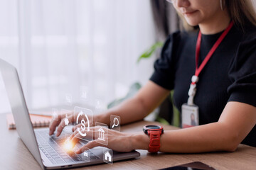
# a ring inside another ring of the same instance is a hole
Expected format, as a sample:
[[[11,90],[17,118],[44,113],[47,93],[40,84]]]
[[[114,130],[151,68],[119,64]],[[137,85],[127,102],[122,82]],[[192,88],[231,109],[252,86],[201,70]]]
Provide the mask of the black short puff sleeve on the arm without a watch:
[[[154,73],[150,80],[164,89],[174,89],[174,48],[178,45],[180,32],[169,35],[161,50],[161,57],[154,62]]]

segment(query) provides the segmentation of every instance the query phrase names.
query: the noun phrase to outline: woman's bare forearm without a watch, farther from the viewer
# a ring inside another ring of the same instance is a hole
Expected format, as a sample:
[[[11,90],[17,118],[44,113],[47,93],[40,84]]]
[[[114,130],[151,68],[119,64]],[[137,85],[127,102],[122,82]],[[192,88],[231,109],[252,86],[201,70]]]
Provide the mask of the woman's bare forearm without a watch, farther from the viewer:
[[[146,115],[154,111],[159,104],[168,96],[169,90],[148,81],[136,96],[124,101],[119,106],[96,115],[95,120],[100,123],[110,125],[110,115],[119,115],[122,124],[132,123],[142,120]]]

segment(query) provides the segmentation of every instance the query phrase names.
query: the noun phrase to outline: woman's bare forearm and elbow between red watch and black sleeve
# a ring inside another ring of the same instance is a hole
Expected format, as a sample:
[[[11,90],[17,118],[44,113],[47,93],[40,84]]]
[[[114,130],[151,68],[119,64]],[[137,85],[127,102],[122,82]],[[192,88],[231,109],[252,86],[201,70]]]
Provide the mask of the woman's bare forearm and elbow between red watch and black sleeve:
[[[161,135],[161,152],[196,153],[233,152],[256,124],[256,108],[245,103],[228,102],[216,123],[181,130],[168,130]],[[149,140],[144,134],[137,140]],[[143,143],[143,142],[141,142]],[[138,149],[146,149],[140,145]]]

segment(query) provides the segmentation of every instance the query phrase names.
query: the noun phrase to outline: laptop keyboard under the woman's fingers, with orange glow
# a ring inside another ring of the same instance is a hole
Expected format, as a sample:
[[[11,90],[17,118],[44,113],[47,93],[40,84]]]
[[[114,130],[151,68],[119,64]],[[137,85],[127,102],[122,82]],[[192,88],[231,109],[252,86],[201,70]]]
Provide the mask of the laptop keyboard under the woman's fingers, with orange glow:
[[[65,136],[67,135],[63,134],[65,132],[63,132],[62,135],[60,135],[60,137],[49,136],[48,130],[37,131],[35,133],[39,149],[41,149],[41,151],[46,155],[46,157],[48,157],[50,162],[52,162],[53,164],[63,164],[82,161],[81,155],[68,154],[62,149],[62,147],[60,147],[66,140]],[[74,150],[76,149],[78,149],[77,145],[75,146]],[[95,154],[92,154],[90,150],[87,151],[87,153],[90,155],[90,159],[99,158],[95,156]]]

